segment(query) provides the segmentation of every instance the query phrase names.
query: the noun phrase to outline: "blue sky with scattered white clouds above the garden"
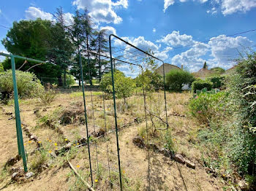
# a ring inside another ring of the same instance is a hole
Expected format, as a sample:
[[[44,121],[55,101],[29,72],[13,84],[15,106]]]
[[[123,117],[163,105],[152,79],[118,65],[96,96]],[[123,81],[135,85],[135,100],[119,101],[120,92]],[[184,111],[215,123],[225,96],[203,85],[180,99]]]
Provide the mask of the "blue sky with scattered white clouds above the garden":
[[[208,66],[229,69],[234,58],[256,44],[256,0],[2,0],[0,25],[15,20],[53,20],[64,8],[72,22],[75,9],[87,7],[97,28],[107,28],[167,63],[197,71]],[[0,39],[7,28],[0,26]],[[244,34],[240,32],[250,31]],[[227,36],[237,34],[234,36]],[[211,39],[209,42],[205,42]],[[194,44],[194,45],[192,45]],[[118,44],[117,44],[118,45]],[[0,51],[6,51],[0,44]]]

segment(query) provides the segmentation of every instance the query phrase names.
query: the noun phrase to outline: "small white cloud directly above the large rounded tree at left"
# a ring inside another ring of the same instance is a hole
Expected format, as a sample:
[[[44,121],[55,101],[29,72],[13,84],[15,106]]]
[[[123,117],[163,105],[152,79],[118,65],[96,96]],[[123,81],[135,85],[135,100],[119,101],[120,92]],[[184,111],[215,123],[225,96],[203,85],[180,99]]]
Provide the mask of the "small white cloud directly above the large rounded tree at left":
[[[42,20],[53,20],[53,15],[49,12],[44,12],[42,9],[37,7],[29,7],[29,9],[26,9],[26,19],[29,20],[35,20],[38,17]]]

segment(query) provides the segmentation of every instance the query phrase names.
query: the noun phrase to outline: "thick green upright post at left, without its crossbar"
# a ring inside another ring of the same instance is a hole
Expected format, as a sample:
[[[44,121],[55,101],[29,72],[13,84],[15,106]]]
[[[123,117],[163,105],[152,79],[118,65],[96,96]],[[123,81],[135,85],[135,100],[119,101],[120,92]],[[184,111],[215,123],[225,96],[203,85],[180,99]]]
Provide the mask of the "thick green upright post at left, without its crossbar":
[[[26,154],[23,144],[23,136],[22,136],[22,130],[21,130],[21,122],[20,122],[20,108],[19,108],[19,102],[18,102],[18,88],[17,88],[17,82],[16,82],[16,74],[15,74],[15,58],[14,56],[11,56],[11,62],[12,62],[12,82],[13,82],[13,91],[14,91],[14,104],[15,104],[15,120],[16,120],[16,131],[17,131],[17,139],[18,139],[18,151],[19,155],[21,155],[23,159],[23,167],[24,171],[27,171],[26,166]]]

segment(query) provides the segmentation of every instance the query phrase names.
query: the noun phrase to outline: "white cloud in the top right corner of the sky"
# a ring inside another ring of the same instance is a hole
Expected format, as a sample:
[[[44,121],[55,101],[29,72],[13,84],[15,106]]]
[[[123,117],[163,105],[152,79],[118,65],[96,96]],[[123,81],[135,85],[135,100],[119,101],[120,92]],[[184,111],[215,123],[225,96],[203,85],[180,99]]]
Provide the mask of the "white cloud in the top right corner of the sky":
[[[230,15],[234,12],[247,12],[256,7],[255,0],[222,0],[223,15]]]

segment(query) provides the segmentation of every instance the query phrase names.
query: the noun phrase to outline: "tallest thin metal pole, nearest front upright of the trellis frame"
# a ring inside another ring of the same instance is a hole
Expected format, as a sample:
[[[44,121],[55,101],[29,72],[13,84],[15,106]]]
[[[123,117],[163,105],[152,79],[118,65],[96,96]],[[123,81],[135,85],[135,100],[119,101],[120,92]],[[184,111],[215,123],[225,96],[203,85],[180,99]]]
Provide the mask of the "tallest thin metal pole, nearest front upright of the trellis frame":
[[[109,36],[109,51],[110,51],[110,63],[111,63],[111,74],[112,74],[112,87],[113,87],[113,102],[114,102],[114,112],[115,112],[115,124],[116,124],[116,147],[117,147],[117,155],[118,155],[118,168],[119,168],[119,179],[120,179],[120,190],[123,190],[122,182],[121,182],[121,163],[120,163],[120,154],[119,154],[119,144],[118,144],[118,128],[117,128],[117,120],[116,120],[116,95],[115,95],[115,82],[114,82],[114,74],[113,74],[113,61],[112,61],[112,52],[111,52],[111,36]]]

